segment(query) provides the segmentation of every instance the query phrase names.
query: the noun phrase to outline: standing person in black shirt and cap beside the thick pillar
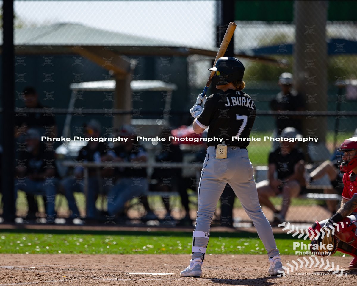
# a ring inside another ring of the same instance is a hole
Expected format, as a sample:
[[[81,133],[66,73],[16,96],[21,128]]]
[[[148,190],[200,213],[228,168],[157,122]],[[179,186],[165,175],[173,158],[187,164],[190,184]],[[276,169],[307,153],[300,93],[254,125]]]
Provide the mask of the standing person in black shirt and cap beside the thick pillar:
[[[273,137],[275,138],[280,137],[282,130],[286,127],[294,127],[298,132],[301,132],[301,115],[287,115],[286,112],[304,110],[303,97],[292,88],[292,74],[282,73],[279,77],[278,84],[281,92],[270,102],[271,110],[281,111],[281,114],[277,115],[275,120],[276,129],[273,132]],[[277,141],[273,141],[273,149],[276,149],[278,145],[279,143]]]

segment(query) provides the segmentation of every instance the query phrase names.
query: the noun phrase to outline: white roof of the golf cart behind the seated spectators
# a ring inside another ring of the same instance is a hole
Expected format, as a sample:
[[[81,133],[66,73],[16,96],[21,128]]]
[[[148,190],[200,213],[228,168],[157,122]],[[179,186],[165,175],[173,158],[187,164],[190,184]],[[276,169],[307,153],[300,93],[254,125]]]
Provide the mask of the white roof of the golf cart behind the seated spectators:
[[[71,90],[86,90],[86,91],[114,91],[115,80],[99,80],[96,82],[72,83],[69,88]],[[172,91],[177,89],[176,84],[165,83],[161,80],[132,80],[130,82],[132,91]]]

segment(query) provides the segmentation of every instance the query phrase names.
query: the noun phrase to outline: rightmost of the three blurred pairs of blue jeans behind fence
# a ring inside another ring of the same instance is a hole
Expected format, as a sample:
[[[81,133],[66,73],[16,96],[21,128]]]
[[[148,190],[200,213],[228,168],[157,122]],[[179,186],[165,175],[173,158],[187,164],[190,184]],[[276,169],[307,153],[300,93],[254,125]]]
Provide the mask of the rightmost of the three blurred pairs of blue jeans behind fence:
[[[125,203],[132,198],[147,194],[149,185],[146,178],[122,178],[118,180],[107,196],[108,213],[118,215]]]

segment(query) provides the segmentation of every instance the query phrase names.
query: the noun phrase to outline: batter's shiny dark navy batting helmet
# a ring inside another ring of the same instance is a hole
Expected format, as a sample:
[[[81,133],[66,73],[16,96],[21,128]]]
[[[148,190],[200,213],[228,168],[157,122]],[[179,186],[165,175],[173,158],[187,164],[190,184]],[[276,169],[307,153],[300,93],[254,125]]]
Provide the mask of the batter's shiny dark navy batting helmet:
[[[223,56],[219,58],[215,66],[209,70],[216,71],[216,74],[212,77],[212,83],[215,85],[223,85],[237,80],[243,80],[245,68],[240,60],[232,56]]]

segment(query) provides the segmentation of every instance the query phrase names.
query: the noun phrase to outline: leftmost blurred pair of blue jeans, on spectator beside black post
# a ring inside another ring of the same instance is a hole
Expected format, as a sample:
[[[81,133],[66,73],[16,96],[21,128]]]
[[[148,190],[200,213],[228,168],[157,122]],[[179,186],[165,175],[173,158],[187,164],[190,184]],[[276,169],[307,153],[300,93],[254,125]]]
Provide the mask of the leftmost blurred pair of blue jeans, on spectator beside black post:
[[[34,181],[29,178],[15,179],[15,194],[20,189],[26,194],[40,194],[44,196],[47,217],[55,217],[55,196],[58,185],[57,178],[46,178],[42,181]]]

